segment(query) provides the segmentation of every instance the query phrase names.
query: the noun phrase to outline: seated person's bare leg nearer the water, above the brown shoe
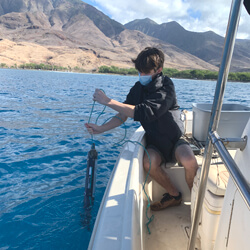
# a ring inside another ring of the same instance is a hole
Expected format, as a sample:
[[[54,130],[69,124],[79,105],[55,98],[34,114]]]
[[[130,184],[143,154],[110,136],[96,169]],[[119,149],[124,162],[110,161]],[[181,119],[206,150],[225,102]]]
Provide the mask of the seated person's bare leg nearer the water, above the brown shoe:
[[[151,160],[151,169],[149,173],[150,176],[156,182],[158,182],[163,188],[165,188],[170,195],[178,196],[179,195],[178,190],[173,185],[168,175],[161,168],[161,161],[162,161],[161,156],[158,154],[158,152],[156,152],[151,148],[148,149],[148,153]],[[150,164],[147,154],[144,154],[143,157],[143,167],[145,171],[147,172],[149,171]]]

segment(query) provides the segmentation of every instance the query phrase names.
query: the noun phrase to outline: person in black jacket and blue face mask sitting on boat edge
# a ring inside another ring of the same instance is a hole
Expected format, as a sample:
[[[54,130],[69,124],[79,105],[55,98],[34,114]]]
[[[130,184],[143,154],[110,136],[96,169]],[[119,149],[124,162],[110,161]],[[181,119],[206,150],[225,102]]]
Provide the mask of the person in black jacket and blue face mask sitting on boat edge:
[[[150,169],[148,155],[144,153],[143,167],[146,171],[150,169],[150,176],[166,189],[163,198],[150,205],[151,210],[158,211],[180,205],[182,201],[182,194],[161,168],[162,163],[177,161],[184,166],[190,190],[198,164],[171,113],[178,110],[179,106],[172,80],[162,73],[163,52],[147,47],[132,61],[139,72],[139,81],[130,89],[124,103],[109,98],[100,89],[96,89],[93,94],[94,101],[117,111],[116,117],[101,126],[92,123],[86,123],[85,126],[89,133],[99,134],[121,125],[128,117],[141,123],[151,160]]]

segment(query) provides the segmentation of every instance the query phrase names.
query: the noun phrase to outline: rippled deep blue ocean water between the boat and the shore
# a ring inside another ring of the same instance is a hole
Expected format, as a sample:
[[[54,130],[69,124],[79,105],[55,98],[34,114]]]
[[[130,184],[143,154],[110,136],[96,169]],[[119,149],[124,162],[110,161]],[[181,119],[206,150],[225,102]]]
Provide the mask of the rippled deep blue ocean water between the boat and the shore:
[[[95,201],[84,211],[88,122],[95,88],[123,101],[137,77],[0,69],[0,249],[87,249],[124,126],[94,136]],[[215,81],[173,79],[179,105],[211,103]],[[250,84],[228,83],[225,102],[250,106]],[[91,122],[102,111],[94,106]],[[98,124],[115,115],[109,108]],[[127,137],[139,126],[128,119]]]

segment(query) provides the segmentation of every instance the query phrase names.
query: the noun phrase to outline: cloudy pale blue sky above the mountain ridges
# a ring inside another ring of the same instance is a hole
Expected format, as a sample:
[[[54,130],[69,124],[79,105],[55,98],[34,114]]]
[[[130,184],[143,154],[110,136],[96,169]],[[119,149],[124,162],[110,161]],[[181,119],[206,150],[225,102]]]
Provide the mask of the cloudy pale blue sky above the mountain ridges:
[[[150,18],[158,24],[176,21],[186,30],[225,36],[231,0],[84,0],[110,18],[126,24]],[[237,38],[250,39],[250,15],[244,6]]]

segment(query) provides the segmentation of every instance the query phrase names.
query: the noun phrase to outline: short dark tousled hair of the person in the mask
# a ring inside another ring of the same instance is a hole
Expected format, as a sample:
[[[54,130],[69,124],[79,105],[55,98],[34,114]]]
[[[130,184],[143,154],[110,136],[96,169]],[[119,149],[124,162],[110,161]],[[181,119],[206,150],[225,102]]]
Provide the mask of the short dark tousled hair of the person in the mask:
[[[147,47],[139,53],[136,59],[132,59],[132,62],[139,72],[149,73],[152,69],[156,71],[163,68],[164,54],[157,48]]]

